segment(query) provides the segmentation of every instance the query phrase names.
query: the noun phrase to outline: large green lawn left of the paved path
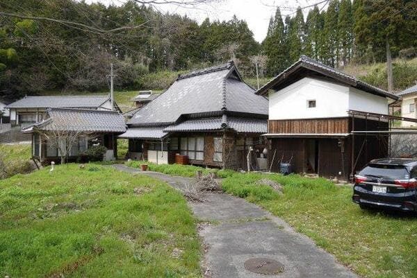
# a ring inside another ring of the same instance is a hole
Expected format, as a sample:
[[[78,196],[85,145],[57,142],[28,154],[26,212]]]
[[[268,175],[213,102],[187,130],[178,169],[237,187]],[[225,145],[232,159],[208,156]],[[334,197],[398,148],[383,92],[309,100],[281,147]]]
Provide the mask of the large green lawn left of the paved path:
[[[163,182],[108,166],[0,181],[0,276],[201,277],[195,219]]]

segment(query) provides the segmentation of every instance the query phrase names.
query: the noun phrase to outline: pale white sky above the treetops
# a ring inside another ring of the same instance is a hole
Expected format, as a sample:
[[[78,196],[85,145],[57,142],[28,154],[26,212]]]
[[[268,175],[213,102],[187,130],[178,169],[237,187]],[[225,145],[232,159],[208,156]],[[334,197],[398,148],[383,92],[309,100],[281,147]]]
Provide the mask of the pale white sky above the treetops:
[[[106,5],[122,5],[124,0],[87,0],[87,3],[101,2]],[[319,3],[320,0],[217,0],[215,3],[202,4],[197,8],[177,6],[174,4],[162,4],[156,6],[161,12],[178,13],[195,19],[199,24],[208,17],[213,20],[229,20],[234,15],[238,19],[245,19],[254,38],[262,42],[268,31],[270,17],[275,14],[277,6],[281,7],[281,13],[293,16],[297,6],[305,7]],[[322,8],[322,3],[319,5]],[[304,10],[304,15],[309,9]]]

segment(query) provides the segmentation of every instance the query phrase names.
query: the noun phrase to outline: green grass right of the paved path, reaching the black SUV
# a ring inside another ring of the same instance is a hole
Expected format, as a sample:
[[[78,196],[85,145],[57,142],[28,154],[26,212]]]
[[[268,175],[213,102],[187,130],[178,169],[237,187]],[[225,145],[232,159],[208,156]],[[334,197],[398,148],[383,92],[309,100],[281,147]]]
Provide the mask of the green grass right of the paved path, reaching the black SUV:
[[[261,178],[284,185],[284,194],[256,184]],[[222,186],[283,218],[363,277],[417,277],[417,218],[363,211],[352,203],[350,186],[258,173],[235,173]]]

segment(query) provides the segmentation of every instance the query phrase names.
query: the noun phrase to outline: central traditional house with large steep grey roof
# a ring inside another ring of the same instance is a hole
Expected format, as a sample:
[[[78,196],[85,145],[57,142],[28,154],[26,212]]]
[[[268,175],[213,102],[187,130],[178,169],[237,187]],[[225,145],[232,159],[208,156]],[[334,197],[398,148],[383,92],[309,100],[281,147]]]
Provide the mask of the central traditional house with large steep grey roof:
[[[183,155],[190,164],[247,169],[250,147],[261,157],[267,119],[268,100],[228,62],[179,76],[132,116],[120,138],[129,139],[132,159],[167,164]]]

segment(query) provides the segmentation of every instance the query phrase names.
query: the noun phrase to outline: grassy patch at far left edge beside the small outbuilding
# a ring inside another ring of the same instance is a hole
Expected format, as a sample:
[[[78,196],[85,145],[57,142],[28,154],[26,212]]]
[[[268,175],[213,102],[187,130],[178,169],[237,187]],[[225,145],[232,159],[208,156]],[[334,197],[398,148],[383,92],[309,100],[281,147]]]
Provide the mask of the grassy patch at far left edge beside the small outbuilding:
[[[3,159],[5,169],[0,169],[2,176],[10,177],[18,173],[29,173],[32,170],[30,144],[0,144],[0,159]]]

